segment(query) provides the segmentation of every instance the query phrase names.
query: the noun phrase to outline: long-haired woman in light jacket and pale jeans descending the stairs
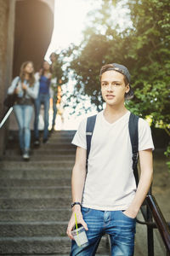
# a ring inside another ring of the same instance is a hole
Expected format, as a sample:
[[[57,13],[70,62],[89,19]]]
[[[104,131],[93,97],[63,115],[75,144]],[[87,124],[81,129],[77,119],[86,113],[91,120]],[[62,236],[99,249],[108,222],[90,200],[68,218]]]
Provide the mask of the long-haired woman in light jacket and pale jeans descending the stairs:
[[[31,61],[24,62],[20,67],[20,76],[12,81],[8,95],[16,94],[14,115],[19,125],[20,152],[24,160],[30,159],[31,117],[33,103],[37,98],[39,83],[34,77],[34,67]]]

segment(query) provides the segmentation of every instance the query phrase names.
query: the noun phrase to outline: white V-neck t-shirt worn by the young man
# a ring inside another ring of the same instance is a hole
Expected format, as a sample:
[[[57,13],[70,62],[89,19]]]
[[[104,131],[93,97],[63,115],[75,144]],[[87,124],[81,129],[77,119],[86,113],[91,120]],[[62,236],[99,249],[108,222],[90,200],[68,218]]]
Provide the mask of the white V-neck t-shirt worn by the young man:
[[[132,146],[128,131],[130,112],[108,123],[104,111],[97,114],[88,174],[82,195],[82,206],[102,211],[126,210],[133,201],[136,182],[133,176]],[[86,123],[83,119],[72,143],[87,149]],[[154,149],[150,126],[139,119],[139,151]]]

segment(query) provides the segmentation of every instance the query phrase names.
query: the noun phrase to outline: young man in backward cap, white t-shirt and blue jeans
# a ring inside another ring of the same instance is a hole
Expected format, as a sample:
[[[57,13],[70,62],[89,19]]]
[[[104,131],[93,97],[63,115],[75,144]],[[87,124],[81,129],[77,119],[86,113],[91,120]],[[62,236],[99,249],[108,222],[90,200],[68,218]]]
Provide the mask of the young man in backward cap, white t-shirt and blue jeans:
[[[111,236],[111,255],[132,256],[135,218],[152,181],[150,126],[139,119],[139,161],[141,174],[136,188],[132,145],[128,131],[130,112],[124,101],[132,96],[127,67],[108,64],[100,70],[101,92],[106,102],[98,113],[86,170],[86,123],[84,119],[73,139],[77,145],[72,171],[72,215],[67,235],[77,222],[88,236],[88,246],[77,247],[72,240],[71,255],[95,255],[101,236]]]

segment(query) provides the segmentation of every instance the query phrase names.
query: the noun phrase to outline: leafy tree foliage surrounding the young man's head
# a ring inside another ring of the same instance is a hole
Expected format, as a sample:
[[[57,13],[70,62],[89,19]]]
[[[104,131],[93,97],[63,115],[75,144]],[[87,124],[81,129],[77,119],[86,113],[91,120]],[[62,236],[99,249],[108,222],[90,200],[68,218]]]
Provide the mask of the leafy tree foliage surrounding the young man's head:
[[[121,4],[129,11],[124,18],[131,20],[124,29],[112,13]],[[68,51],[77,80],[77,102],[78,95],[88,95],[101,109],[99,69],[106,63],[121,63],[132,74],[134,98],[127,108],[143,118],[150,116],[152,125],[170,135],[170,1],[103,0],[91,18],[82,44]]]

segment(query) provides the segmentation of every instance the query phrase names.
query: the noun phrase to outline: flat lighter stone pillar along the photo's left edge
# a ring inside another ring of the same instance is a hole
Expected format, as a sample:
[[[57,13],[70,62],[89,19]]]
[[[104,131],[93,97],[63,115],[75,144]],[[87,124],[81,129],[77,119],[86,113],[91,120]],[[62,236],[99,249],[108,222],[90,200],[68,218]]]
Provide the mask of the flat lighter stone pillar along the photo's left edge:
[[[5,109],[3,100],[12,77],[14,49],[14,5],[15,0],[0,0],[0,119]],[[0,158],[3,155],[7,125],[0,129]]]

